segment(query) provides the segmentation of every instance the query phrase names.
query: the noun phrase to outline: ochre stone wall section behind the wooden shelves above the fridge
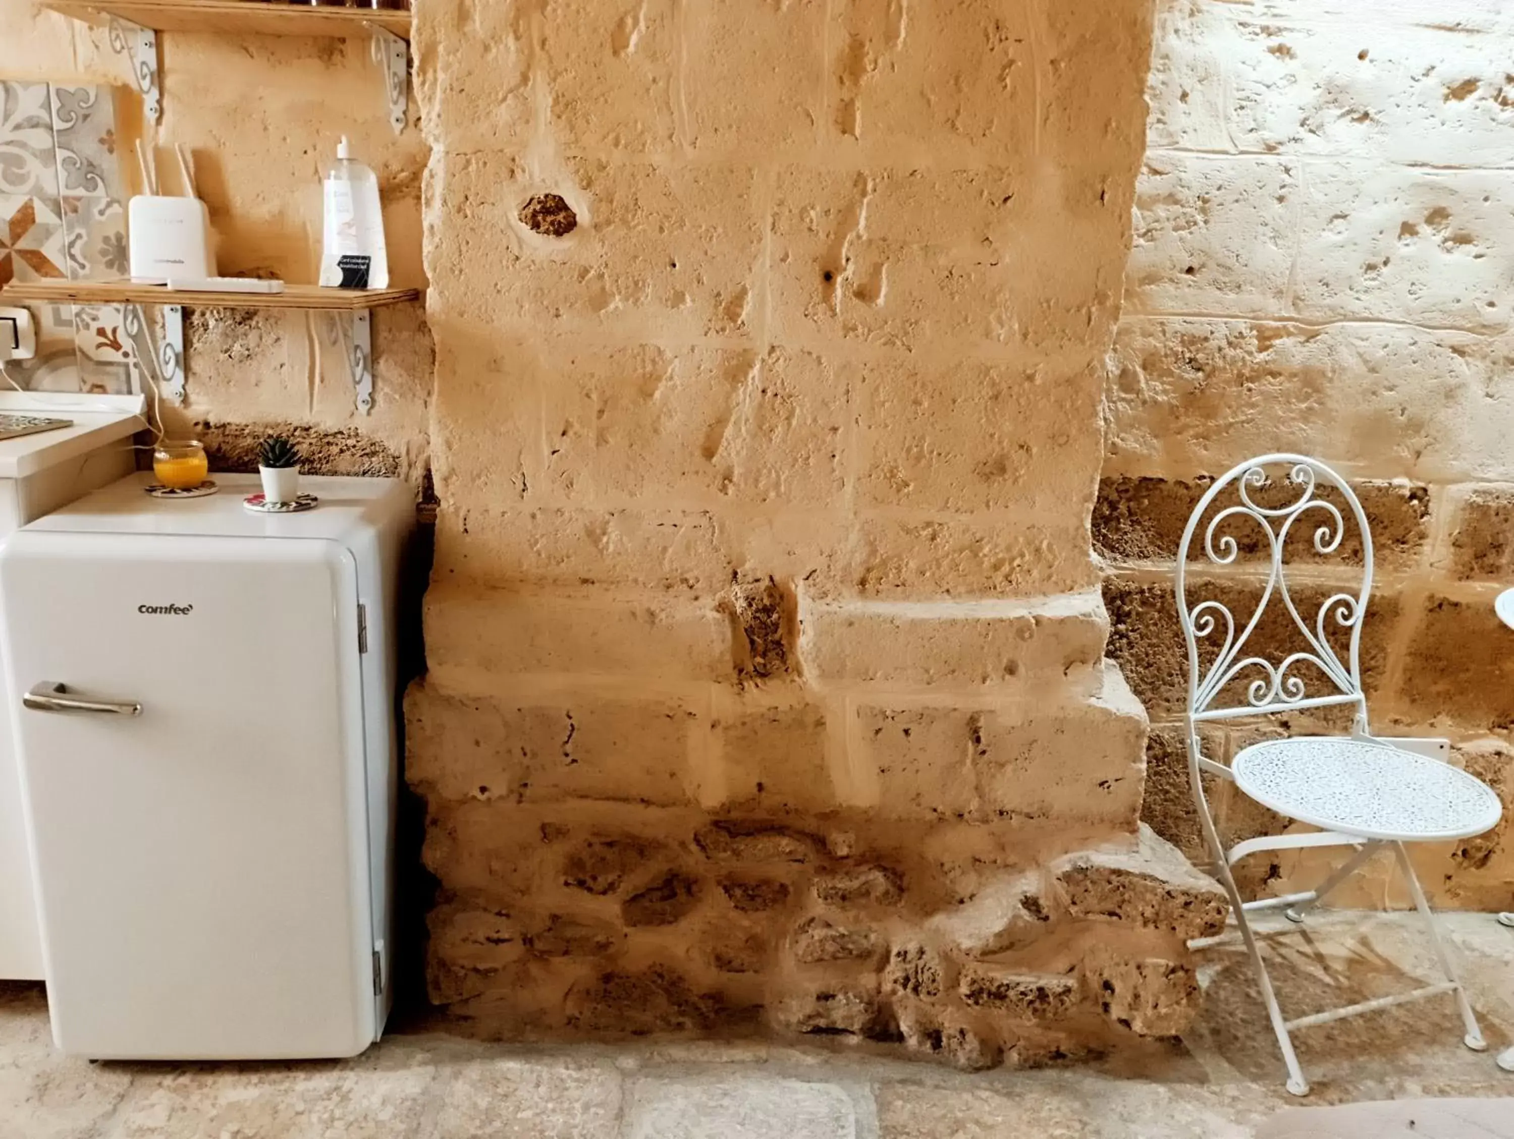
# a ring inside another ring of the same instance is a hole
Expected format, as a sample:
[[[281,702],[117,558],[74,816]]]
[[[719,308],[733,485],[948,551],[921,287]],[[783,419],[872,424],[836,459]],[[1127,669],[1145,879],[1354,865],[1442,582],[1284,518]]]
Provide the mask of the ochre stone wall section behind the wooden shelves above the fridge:
[[[316,278],[321,172],[345,133],[378,174],[394,283],[424,286],[425,141],[415,121],[400,136],[391,130],[366,41],[164,33],[164,116],[150,124],[130,65],[111,51],[103,30],[35,0],[6,0],[3,20],[0,77],[115,85],[117,154],[129,156],[138,136],[156,142],[165,182],[173,145],[189,147],[221,239],[223,274]],[[135,160],[127,169],[135,185]],[[303,315],[186,309],[188,402],[165,408],[171,433],[204,439],[217,469],[245,469],[253,442],[280,430],[301,437],[307,469],[419,483],[431,387],[421,306],[374,315],[371,416],[354,408],[339,331],[326,315],[307,327]]]

